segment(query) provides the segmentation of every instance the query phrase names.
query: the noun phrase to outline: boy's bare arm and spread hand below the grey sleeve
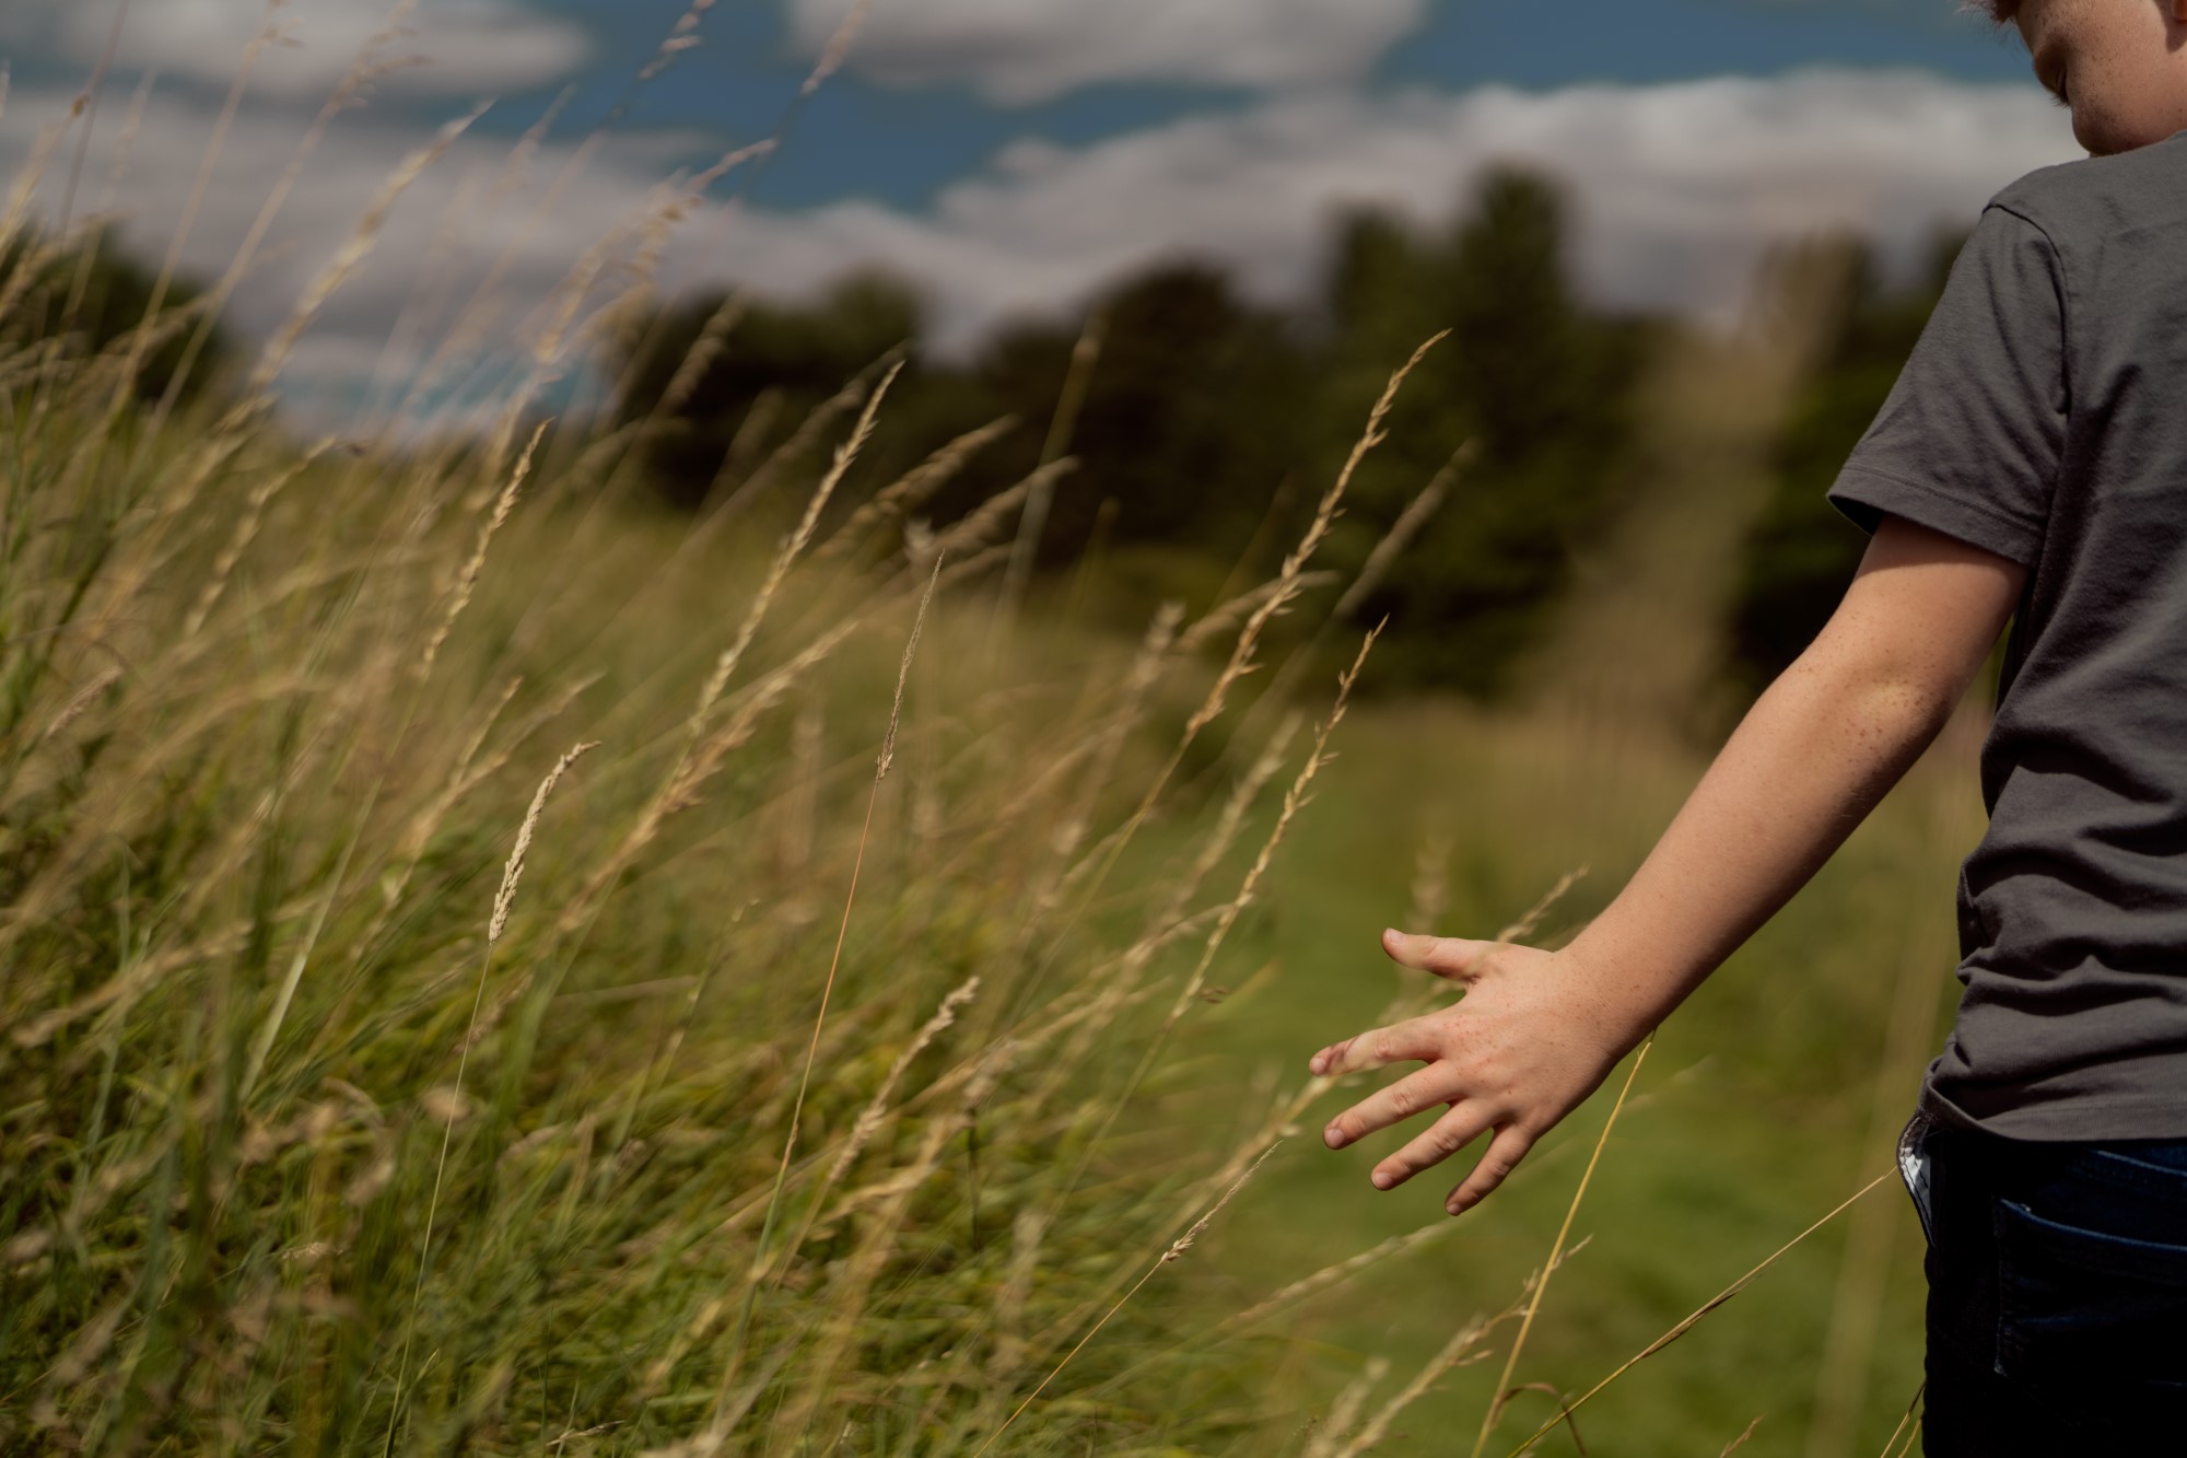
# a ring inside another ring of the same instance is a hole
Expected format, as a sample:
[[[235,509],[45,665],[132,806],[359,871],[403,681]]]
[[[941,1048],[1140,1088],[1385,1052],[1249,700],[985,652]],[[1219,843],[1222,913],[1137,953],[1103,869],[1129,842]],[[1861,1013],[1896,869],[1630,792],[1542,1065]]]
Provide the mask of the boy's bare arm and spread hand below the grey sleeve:
[[[1997,644],[2023,580],[2008,558],[1885,517],[1831,624],[1568,948],[1384,933],[1391,957],[1463,983],[1465,998],[1314,1055],[1312,1071],[1330,1077],[1428,1064],[1338,1114],[1328,1145],[1450,1106],[1376,1165],[1373,1182],[1393,1189],[1494,1130],[1446,1200],[1452,1215],[1478,1204],[1914,764]]]

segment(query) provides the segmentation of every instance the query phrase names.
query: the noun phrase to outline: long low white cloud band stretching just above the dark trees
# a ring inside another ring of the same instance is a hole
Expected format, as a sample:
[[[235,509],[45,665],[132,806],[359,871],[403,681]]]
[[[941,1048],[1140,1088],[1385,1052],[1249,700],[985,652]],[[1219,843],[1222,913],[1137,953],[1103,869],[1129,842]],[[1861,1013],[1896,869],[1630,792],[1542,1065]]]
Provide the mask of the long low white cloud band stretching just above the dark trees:
[[[28,155],[68,92],[17,96],[0,116],[0,180]],[[155,96],[133,136],[118,197],[127,236],[162,245],[197,175],[212,109]],[[112,199],[103,160],[79,212]],[[273,180],[289,166],[293,116],[238,120],[184,265],[219,276]],[[341,247],[381,182],[420,142],[416,129],[337,127],[304,171],[232,306],[234,326],[271,335]],[[510,144],[466,136],[402,197],[359,274],[332,296],[291,361],[328,398],[378,377],[405,381],[479,298],[466,357],[507,359],[549,315],[547,300],[586,250],[660,199],[660,158],[691,138],[634,138],[580,166],[549,144],[510,169]],[[1286,96],[1080,149],[1019,142],[947,188],[929,212],[842,201],[805,212],[702,204],[665,243],[669,289],[750,282],[814,291],[853,267],[884,265],[923,285],[943,344],[962,346],[1015,313],[1061,313],[1118,271],[1168,254],[1229,263],[1260,296],[1297,296],[1323,267],[1328,219],[1354,204],[1439,219],[1500,160],[1566,177],[1572,263],[1597,300],[1730,311],[1750,265],[1776,239],[1859,228],[1911,252],[1938,225],[1968,225],[2016,175],[2075,155],[2062,116],[2034,88],[1970,88],[1918,72],[1811,72],[1559,92],[1413,92],[1387,99]],[[50,195],[50,182],[48,182]],[[630,245],[619,250],[628,258]],[[593,298],[628,271],[608,269]],[[1422,320],[1424,331],[1432,320]]]

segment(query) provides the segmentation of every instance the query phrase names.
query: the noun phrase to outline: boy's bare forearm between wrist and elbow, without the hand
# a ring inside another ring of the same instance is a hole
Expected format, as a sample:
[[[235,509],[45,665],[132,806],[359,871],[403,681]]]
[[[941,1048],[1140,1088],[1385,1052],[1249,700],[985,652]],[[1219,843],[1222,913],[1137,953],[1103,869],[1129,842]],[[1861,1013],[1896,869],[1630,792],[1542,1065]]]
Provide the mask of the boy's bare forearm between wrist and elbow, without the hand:
[[[1625,891],[1566,950],[1621,1042],[1791,900],[1935,738],[1964,679],[1824,635],[1732,733]]]

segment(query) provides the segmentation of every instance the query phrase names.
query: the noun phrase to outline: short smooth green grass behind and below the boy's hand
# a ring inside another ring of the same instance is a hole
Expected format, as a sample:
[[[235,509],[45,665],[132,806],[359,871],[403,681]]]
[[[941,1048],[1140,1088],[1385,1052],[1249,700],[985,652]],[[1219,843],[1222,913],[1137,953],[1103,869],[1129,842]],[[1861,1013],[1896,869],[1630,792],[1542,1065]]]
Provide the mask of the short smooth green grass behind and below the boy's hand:
[[[1286,854],[1238,954],[1240,968],[1268,959],[1277,974],[1209,1014],[1198,1051],[1214,1060],[1212,1077],[1194,1095],[1203,1112],[1227,1114],[1255,1073],[1297,1081],[1312,1049],[1371,1027],[1400,994],[1376,933],[1408,924],[1424,845],[1443,852],[1430,852],[1448,895],[1439,930],[1494,935],[1559,867],[1586,863],[1590,876],[1551,919],[1568,928],[1636,865],[1701,768],[1695,753],[1649,747],[1642,736],[1590,762],[1586,744],[1603,740],[1583,725],[1432,703],[1369,709],[1347,729],[1314,834]],[[1977,821],[1960,733],[1664,1025],[1579,1213],[1575,1233],[1592,1239],[1557,1276],[1518,1381],[1548,1381],[1566,1395],[1590,1388],[1890,1167],[1896,1123],[1911,1112],[1918,1066],[1955,992],[1951,876]],[[1360,1079],[1352,1097],[1369,1086]],[[1511,1298],[1548,1252],[1607,1095],[1457,1222],[1439,1208],[1457,1171],[1395,1193],[1367,1184],[1378,1152],[1400,1141],[1395,1132],[1363,1149],[1323,1152],[1319,1127],[1341,1106],[1341,1095],[1330,1097],[1301,1121],[1297,1147],[1271,1167],[1218,1246],[1236,1300],[1249,1305],[1299,1268],[1393,1235],[1452,1228],[1260,1338],[1271,1359],[1290,1362],[1301,1423],[1365,1359],[1395,1364],[1387,1392],[1459,1322]],[[1172,1116],[1192,1114],[1192,1099],[1179,1095]],[[1863,1248],[1883,1254],[1848,1272],[1855,1222],[1872,1222]],[[1850,1388],[1839,1384],[1848,1397],[1837,1399],[1850,1436],[1844,1451],[1881,1451],[1920,1381],[1918,1248],[1911,1208],[1890,1182],[1590,1403],[1581,1436],[1616,1454],[1715,1451],[1708,1443],[1730,1443],[1761,1414],[1743,1451],[1804,1454],[1835,1316],[1852,1324],[1839,1342],[1855,1342],[1837,1357],[1852,1373]],[[1282,1355],[1301,1338],[1314,1342],[1310,1357]],[[1463,1451],[1496,1366],[1463,1370],[1413,1408],[1411,1447],[1393,1449]],[[1542,1395],[1518,1399],[1502,1445],[1489,1451],[1507,1451],[1553,1414]],[[1572,1449],[1555,1436],[1542,1451]]]

